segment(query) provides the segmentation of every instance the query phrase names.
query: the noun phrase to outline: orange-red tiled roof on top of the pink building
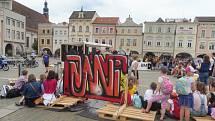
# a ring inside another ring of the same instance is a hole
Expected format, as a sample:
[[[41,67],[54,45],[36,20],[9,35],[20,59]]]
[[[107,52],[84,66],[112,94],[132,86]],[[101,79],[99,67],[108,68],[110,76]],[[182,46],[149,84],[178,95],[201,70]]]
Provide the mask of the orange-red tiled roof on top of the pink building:
[[[93,24],[118,24],[119,17],[96,17]]]

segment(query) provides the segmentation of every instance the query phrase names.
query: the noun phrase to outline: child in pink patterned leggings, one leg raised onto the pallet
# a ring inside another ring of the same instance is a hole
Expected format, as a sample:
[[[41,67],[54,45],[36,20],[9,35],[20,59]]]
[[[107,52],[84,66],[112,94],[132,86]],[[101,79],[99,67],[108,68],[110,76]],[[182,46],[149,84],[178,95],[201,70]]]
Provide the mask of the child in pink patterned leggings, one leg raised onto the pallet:
[[[158,78],[158,86],[157,86],[157,92],[158,95],[155,95],[153,98],[148,100],[147,108],[143,109],[143,113],[148,113],[150,111],[150,108],[152,106],[153,102],[161,101],[161,117],[160,120],[164,119],[166,108],[167,108],[167,100],[169,98],[169,94],[163,93],[164,90],[161,89],[163,87],[163,82],[167,82],[169,80],[169,77],[167,76],[167,68],[166,67],[161,67],[161,76]],[[169,81],[168,81],[169,83]]]

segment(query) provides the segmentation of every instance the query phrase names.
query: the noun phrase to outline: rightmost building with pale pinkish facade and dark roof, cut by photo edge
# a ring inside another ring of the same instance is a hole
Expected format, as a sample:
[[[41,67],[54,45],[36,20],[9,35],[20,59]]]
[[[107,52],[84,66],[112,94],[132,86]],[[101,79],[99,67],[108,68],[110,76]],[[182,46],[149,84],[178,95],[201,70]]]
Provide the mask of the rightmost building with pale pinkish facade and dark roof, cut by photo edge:
[[[196,56],[211,55],[215,51],[215,17],[196,17],[197,45]]]

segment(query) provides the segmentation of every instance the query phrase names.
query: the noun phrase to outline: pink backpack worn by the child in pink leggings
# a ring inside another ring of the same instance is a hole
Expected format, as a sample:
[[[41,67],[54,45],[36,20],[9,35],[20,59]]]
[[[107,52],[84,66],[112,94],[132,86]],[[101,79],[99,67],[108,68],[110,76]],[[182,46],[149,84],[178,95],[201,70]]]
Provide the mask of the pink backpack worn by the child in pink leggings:
[[[173,91],[173,84],[172,84],[172,82],[169,80],[168,77],[164,77],[163,76],[162,78],[163,78],[163,82],[161,84],[161,92],[163,94],[166,94],[166,95],[171,94],[172,91]]]

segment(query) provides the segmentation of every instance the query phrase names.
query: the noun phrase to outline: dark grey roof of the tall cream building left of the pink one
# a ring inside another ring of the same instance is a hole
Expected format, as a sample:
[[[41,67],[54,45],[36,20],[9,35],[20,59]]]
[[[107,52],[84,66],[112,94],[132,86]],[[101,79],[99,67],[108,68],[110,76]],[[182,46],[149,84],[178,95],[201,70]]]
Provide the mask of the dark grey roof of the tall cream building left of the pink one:
[[[83,18],[79,17],[80,12],[83,12]],[[96,11],[73,11],[69,19],[92,19],[95,14]]]

